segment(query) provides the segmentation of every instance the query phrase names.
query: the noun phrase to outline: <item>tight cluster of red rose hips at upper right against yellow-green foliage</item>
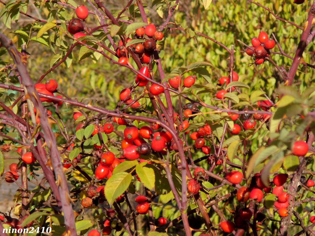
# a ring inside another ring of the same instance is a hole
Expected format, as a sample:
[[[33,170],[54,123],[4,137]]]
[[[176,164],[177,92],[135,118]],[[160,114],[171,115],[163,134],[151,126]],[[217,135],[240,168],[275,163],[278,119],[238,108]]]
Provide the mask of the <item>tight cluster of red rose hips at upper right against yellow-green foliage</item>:
[[[252,47],[246,48],[245,52],[249,56],[254,56],[255,65],[261,65],[268,58],[270,51],[275,46],[275,41],[268,37],[264,31],[260,31],[258,38],[253,37]]]

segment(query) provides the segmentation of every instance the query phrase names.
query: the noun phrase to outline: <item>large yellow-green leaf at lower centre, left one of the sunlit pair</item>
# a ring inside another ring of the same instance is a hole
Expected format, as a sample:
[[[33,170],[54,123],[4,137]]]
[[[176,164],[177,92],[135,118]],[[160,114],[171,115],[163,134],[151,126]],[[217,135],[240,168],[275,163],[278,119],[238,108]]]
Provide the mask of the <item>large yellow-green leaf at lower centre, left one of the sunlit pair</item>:
[[[104,193],[109,205],[123,194],[131,183],[132,176],[127,172],[119,172],[110,177],[104,187]]]

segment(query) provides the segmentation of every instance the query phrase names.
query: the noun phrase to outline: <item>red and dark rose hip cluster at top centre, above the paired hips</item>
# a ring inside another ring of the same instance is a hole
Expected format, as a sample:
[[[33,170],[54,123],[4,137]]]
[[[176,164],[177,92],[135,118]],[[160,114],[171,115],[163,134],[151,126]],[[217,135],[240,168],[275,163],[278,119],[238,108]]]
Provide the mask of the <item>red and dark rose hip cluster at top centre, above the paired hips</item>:
[[[126,48],[125,45],[131,40],[131,38],[126,39],[126,44],[123,44],[123,41],[120,41],[116,51],[117,57],[119,57],[118,62],[127,65],[129,51],[132,50],[139,56],[139,59],[143,64],[150,63],[151,55],[157,46],[157,41],[162,40],[163,37],[163,33],[156,30],[156,27],[153,24],[147,25],[145,28],[140,27],[135,31],[135,39],[144,39],[145,42],[135,43],[130,45],[129,48]]]

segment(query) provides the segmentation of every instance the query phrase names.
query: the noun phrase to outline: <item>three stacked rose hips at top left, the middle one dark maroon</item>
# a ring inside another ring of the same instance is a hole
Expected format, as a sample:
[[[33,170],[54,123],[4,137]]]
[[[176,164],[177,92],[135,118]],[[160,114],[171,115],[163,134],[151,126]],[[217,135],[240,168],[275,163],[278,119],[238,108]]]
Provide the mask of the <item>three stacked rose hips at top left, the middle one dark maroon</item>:
[[[82,20],[85,20],[89,11],[85,6],[78,6],[76,9],[77,18],[71,19],[67,26],[68,32],[73,35],[75,38],[80,38],[86,36],[85,33],[81,32],[84,30],[84,24]]]

